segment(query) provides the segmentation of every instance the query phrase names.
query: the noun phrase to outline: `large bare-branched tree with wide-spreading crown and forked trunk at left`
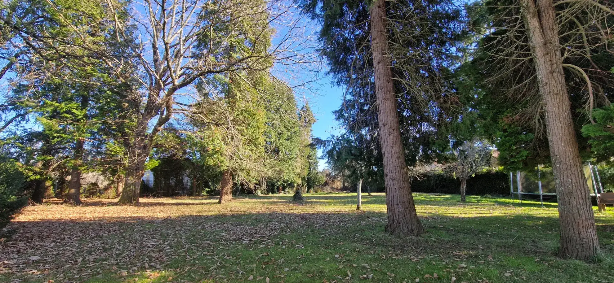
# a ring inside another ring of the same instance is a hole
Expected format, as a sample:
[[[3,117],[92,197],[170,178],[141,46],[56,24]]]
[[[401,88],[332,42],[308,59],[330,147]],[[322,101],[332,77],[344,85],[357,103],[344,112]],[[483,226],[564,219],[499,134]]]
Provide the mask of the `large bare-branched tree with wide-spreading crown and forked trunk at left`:
[[[2,51],[9,55],[2,75],[5,69],[27,74],[29,69],[20,68],[32,63],[29,58],[93,60],[109,67],[111,81],[123,90],[123,103],[115,106],[124,126],[115,127],[122,133],[113,141],[125,148],[125,166],[117,170],[125,175],[121,203],[138,202],[155,136],[174,114],[191,107],[196,85],[273,62],[309,62],[292,50],[301,38],[300,19],[282,20],[290,9],[277,0],[14,1],[6,7],[0,20]],[[272,45],[276,25],[284,32]]]

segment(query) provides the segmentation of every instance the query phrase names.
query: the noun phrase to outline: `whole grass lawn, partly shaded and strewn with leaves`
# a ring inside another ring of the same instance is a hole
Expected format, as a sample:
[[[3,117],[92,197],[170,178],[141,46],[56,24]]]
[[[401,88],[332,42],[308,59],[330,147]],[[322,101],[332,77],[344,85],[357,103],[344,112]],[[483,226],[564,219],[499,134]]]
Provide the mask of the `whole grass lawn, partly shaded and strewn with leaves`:
[[[383,232],[384,194],[360,212],[355,197],[29,206],[0,243],[0,282],[614,282],[612,211],[596,213],[604,257],[588,264],[555,256],[553,203],[414,194],[427,233],[400,239]]]

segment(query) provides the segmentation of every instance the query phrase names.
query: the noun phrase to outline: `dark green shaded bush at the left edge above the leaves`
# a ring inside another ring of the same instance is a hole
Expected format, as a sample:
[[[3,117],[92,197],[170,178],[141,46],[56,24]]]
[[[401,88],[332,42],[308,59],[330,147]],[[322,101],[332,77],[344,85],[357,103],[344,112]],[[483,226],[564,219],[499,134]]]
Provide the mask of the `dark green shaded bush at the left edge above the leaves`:
[[[15,160],[0,156],[0,228],[9,224],[13,214],[28,203],[23,194],[26,176]]]

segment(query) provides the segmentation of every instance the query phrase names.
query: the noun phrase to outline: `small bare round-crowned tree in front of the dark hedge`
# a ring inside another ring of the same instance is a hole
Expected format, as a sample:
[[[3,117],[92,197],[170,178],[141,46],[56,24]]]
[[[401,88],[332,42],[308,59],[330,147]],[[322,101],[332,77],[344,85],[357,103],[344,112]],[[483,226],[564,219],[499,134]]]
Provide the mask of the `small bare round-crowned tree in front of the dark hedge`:
[[[482,140],[464,142],[456,149],[456,162],[446,165],[444,170],[461,180],[461,202],[465,202],[467,179],[486,168],[491,159],[491,147]]]

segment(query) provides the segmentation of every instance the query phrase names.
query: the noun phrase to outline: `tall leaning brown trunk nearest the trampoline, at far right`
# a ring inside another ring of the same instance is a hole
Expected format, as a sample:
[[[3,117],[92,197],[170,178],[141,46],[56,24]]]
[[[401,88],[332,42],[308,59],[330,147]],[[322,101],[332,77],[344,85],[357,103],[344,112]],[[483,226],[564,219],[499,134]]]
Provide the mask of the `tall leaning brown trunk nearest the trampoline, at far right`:
[[[558,195],[563,258],[589,260],[599,254],[593,206],[573,128],[565,86],[553,0],[522,0],[522,13],[546,108],[546,130]]]

